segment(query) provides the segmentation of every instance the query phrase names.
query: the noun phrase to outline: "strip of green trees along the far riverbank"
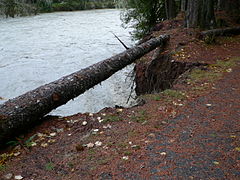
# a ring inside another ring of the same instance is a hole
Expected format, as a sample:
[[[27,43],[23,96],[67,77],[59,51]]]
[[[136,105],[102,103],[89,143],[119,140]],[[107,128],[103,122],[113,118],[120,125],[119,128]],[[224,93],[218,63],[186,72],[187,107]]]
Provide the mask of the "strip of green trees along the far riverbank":
[[[113,0],[0,0],[0,15],[27,16],[54,11],[115,8]]]

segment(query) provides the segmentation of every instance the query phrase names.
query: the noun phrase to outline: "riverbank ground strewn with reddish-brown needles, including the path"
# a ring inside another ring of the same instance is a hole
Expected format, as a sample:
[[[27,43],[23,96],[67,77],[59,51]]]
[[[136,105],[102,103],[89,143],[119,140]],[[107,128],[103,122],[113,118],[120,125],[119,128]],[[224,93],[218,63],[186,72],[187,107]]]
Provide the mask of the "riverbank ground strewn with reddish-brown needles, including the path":
[[[178,20],[164,33],[164,53],[209,65],[142,106],[46,117],[1,150],[0,179],[240,179],[240,36],[208,45]]]

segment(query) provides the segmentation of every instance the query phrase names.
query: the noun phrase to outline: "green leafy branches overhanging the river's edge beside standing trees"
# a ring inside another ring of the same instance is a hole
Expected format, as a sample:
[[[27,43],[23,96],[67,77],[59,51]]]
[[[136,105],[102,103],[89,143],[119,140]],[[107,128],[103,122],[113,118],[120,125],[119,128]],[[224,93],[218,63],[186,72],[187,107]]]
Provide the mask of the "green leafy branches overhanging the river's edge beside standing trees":
[[[143,38],[156,23],[166,18],[163,0],[128,0],[124,5],[121,19],[125,25],[135,28],[135,39]]]

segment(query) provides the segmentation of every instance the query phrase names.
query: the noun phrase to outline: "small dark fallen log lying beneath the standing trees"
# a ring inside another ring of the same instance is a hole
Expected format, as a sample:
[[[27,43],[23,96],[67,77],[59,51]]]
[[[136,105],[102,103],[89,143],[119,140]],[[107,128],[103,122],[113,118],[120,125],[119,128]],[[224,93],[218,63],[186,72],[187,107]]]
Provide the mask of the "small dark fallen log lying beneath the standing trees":
[[[225,29],[213,29],[208,31],[203,31],[200,33],[199,38],[205,40],[209,37],[217,37],[217,36],[231,36],[240,34],[240,27],[234,28],[225,28]]]

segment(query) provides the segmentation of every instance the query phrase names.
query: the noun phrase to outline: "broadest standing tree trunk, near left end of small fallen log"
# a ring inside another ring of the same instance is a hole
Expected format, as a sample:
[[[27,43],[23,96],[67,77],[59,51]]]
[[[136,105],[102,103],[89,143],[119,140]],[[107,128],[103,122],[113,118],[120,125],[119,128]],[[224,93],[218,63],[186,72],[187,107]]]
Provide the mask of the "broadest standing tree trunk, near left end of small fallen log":
[[[215,26],[213,0],[188,0],[186,26],[211,29]]]

